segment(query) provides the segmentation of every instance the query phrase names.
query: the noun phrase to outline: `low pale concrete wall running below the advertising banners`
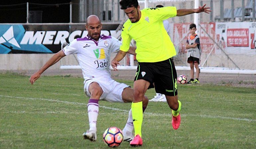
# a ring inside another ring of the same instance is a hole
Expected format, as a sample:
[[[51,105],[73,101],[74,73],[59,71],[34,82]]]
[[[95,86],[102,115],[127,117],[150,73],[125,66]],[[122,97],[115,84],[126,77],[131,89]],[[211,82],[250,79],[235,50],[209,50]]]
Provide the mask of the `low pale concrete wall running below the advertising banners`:
[[[116,53],[112,53],[110,60],[114,58]],[[0,54],[0,70],[38,70],[40,69],[53,54]],[[230,58],[236,62],[240,69],[251,69],[256,70],[256,55],[235,55],[230,54]],[[207,54],[202,53],[201,64],[206,59]],[[181,59],[186,59],[186,54],[180,57]],[[246,59],[242,63],[237,63],[238,59]],[[185,60],[186,61],[186,60]],[[62,59],[63,65],[78,65],[73,55],[65,56]],[[51,66],[49,69],[60,69],[62,65],[61,61],[57,62],[55,65]],[[176,63],[176,62],[175,62]],[[124,64],[124,60],[120,62],[121,65]],[[178,64],[178,63],[177,63]],[[178,65],[177,65],[178,66]],[[234,64],[227,59],[224,55],[211,54],[204,67],[228,67],[235,68]]]

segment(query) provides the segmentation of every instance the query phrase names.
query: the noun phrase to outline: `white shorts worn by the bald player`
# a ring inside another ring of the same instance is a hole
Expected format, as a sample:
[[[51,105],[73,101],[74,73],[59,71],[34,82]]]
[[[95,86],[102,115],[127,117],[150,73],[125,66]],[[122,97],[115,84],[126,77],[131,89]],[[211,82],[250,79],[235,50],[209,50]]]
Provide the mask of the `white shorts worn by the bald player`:
[[[119,83],[111,78],[107,80],[93,78],[84,82],[83,89],[88,97],[91,96],[91,94],[89,93],[89,85],[92,82],[97,82],[103,90],[103,93],[100,96],[99,100],[105,100],[110,102],[124,102],[122,99],[122,92],[124,88],[130,87],[129,85]]]

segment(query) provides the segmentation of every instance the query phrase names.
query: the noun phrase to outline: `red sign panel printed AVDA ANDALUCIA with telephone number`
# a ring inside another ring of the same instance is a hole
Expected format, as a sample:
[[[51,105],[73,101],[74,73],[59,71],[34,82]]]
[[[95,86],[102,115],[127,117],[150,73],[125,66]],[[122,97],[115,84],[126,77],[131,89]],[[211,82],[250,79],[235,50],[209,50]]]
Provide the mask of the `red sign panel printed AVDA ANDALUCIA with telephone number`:
[[[249,28],[228,28],[228,47],[249,47]]]

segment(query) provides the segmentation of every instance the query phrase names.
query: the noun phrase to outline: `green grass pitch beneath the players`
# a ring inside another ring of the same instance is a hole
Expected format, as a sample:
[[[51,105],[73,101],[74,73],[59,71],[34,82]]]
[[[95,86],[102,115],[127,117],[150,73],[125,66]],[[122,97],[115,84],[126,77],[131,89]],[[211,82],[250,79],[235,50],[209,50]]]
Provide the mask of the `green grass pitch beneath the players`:
[[[167,103],[150,102],[141,148],[256,148],[255,89],[179,84],[178,94],[183,104],[180,128],[171,127]],[[146,95],[153,98],[154,89]],[[42,76],[30,85],[28,76],[0,74],[0,148],[108,148],[102,140],[104,130],[122,129],[128,113],[100,107],[97,141],[83,140],[89,127],[88,99],[82,78]],[[99,105],[127,111],[131,107],[105,101]],[[132,147],[123,142],[118,148]]]

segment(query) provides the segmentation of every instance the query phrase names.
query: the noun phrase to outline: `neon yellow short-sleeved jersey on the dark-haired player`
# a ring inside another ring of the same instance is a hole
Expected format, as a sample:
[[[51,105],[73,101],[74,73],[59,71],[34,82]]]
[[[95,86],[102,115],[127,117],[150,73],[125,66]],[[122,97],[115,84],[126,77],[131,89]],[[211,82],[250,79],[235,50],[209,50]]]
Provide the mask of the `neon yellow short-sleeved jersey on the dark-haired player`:
[[[132,39],[136,41],[138,62],[160,62],[176,55],[163,20],[177,15],[176,7],[145,8],[136,23],[128,19],[123,25],[120,50],[127,52]]]

